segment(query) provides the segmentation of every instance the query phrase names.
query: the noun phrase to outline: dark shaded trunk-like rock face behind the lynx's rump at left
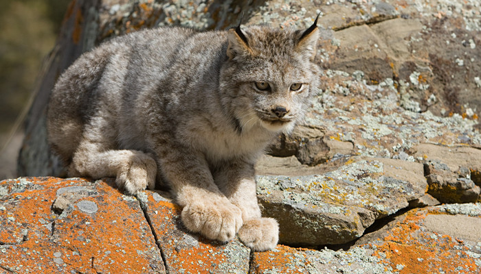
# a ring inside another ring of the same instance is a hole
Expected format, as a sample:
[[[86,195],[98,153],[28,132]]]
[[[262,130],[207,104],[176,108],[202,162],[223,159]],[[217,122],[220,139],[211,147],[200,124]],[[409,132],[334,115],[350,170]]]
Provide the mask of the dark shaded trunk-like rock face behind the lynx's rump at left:
[[[58,76],[83,52],[95,45],[98,32],[97,0],[72,1],[56,46],[44,61],[35,99],[25,120],[25,138],[19,152],[19,176],[64,175],[47,142],[46,114],[49,95]]]

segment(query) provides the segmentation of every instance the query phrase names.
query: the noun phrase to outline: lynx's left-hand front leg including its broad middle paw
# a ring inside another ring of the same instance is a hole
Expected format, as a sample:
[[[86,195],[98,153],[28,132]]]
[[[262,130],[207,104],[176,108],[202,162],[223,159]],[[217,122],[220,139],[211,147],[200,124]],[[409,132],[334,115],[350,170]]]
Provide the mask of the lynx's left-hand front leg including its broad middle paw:
[[[213,240],[232,240],[243,224],[242,213],[214,184],[204,156],[182,145],[161,149],[161,173],[183,206],[183,224]]]

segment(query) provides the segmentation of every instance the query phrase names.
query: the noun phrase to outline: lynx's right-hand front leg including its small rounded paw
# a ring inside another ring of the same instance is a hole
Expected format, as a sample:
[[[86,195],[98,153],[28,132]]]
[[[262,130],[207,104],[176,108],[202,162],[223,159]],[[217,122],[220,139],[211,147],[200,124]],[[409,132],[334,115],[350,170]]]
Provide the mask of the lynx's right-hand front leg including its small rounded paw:
[[[279,225],[275,219],[260,216],[254,165],[240,160],[231,162],[216,172],[215,180],[225,196],[242,211],[243,227],[238,232],[240,240],[255,251],[276,247]]]

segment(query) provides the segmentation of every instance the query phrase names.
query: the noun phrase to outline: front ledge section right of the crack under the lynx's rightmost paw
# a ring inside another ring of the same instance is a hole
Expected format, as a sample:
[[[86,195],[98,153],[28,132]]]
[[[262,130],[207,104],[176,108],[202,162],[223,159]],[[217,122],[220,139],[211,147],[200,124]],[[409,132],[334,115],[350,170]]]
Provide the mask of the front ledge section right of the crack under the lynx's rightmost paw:
[[[472,233],[453,231],[457,227]],[[414,209],[348,251],[279,245],[254,252],[251,273],[480,273],[481,204]],[[440,223],[439,223],[440,222]],[[440,225],[442,224],[442,225]],[[475,237],[475,238],[473,238]],[[474,240],[477,239],[477,240]]]

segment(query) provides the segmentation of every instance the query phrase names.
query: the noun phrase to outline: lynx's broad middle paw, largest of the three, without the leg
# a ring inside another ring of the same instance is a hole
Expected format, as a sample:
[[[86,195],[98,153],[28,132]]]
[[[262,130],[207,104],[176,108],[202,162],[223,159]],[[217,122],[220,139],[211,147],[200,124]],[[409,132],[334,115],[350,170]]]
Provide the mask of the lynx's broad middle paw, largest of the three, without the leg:
[[[232,240],[242,226],[240,209],[227,199],[194,201],[182,210],[182,222],[191,232],[212,240]]]

